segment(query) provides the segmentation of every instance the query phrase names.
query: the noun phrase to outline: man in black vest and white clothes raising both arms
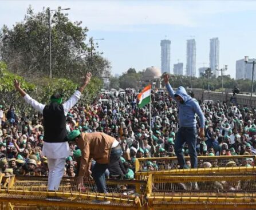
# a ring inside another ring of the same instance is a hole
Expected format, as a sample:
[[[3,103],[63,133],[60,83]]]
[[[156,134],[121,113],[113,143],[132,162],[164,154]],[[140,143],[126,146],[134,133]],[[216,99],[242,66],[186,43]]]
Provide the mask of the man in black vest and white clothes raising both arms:
[[[70,148],[66,133],[66,115],[69,110],[77,103],[89,83],[92,74],[88,72],[84,78],[84,82],[73,96],[62,104],[62,95],[54,94],[50,98],[50,104],[40,104],[38,101],[31,98],[20,86],[15,79],[15,89],[21,94],[27,104],[33,106],[44,117],[44,146],[42,154],[48,158],[48,189],[49,191],[58,190],[61,178],[64,173],[65,159],[70,155]]]

